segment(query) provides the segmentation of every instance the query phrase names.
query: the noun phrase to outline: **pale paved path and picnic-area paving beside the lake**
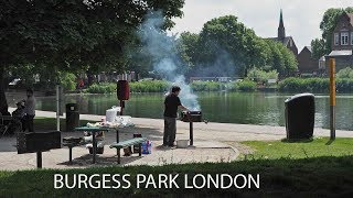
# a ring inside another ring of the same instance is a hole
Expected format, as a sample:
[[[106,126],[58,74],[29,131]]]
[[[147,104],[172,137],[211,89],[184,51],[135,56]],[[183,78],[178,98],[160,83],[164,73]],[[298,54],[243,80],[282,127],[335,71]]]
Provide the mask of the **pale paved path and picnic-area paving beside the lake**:
[[[13,109],[10,108],[10,111]],[[38,117],[55,118],[55,112],[36,111]],[[62,117],[62,118],[65,118]],[[81,120],[99,121],[101,116],[81,114]],[[194,146],[189,148],[164,148],[162,144],[163,121],[160,119],[132,118],[135,128],[120,131],[120,140],[131,139],[133,133],[141,133],[153,142],[152,154],[139,157],[133,154],[122,157],[121,165],[163,165],[170,163],[193,162],[228,162],[239,155],[236,147],[225,142],[239,142],[248,140],[280,140],[286,138],[284,127],[233,124],[233,123],[194,123]],[[189,123],[178,121],[176,139],[189,139]],[[53,127],[55,129],[56,127]],[[62,136],[82,136],[81,132],[63,132]],[[330,131],[314,129],[314,135],[329,136]],[[352,138],[353,131],[336,131],[336,136]],[[74,163],[68,164],[68,150],[66,147],[52,150],[43,154],[43,167],[47,168],[82,168],[89,166],[105,166],[116,164],[116,151],[108,147],[115,141],[115,133],[107,133],[105,138],[105,152],[99,155],[97,164],[92,165],[92,157],[85,146],[74,147]],[[15,138],[0,139],[0,169],[29,169],[35,168],[35,154],[17,154]]]

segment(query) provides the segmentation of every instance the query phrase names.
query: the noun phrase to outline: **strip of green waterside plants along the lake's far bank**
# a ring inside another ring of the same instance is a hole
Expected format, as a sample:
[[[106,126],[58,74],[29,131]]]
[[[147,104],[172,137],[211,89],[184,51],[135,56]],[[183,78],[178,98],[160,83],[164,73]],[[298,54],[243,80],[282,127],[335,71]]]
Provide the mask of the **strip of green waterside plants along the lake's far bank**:
[[[192,81],[189,84],[193,91],[279,91],[279,92],[329,92],[329,78],[299,78],[289,77],[280,81],[268,84],[265,81],[254,81],[242,79],[236,81]],[[165,80],[133,81],[129,84],[131,92],[167,92],[171,82]],[[338,77],[335,81],[338,92],[353,92],[353,80],[347,77]],[[115,82],[100,82],[89,86],[85,91],[90,94],[111,94],[116,92]]]

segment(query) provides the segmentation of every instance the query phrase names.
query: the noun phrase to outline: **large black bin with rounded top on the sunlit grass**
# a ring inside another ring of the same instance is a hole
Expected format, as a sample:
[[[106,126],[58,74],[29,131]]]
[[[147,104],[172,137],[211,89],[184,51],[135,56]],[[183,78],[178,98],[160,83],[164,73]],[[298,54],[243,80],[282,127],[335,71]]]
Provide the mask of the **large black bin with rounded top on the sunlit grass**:
[[[315,116],[314,96],[300,94],[288,98],[286,105],[286,131],[288,140],[312,138]]]

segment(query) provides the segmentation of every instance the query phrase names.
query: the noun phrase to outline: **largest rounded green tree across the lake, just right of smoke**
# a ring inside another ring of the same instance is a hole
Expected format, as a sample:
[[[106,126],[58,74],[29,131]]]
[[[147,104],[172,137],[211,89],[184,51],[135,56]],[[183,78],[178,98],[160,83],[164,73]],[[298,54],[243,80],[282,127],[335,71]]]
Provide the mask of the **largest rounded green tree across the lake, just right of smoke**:
[[[211,63],[222,53],[227,53],[239,76],[246,75],[248,68],[266,63],[267,57],[261,48],[265,44],[234,15],[206,22],[200,33],[200,42],[203,54],[201,62]]]

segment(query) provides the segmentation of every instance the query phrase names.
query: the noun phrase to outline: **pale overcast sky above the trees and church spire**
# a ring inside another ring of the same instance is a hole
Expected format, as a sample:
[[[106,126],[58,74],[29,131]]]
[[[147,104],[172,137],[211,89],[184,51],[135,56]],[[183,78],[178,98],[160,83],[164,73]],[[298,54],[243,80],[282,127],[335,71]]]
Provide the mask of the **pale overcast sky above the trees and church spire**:
[[[205,22],[222,15],[238,21],[261,37],[276,37],[280,9],[286,35],[292,36],[299,52],[321,37],[320,22],[329,8],[353,7],[353,0],[185,0],[182,19],[174,19],[171,33],[200,33]]]

